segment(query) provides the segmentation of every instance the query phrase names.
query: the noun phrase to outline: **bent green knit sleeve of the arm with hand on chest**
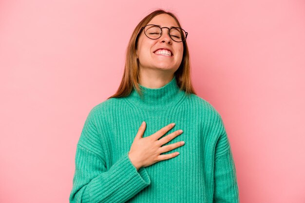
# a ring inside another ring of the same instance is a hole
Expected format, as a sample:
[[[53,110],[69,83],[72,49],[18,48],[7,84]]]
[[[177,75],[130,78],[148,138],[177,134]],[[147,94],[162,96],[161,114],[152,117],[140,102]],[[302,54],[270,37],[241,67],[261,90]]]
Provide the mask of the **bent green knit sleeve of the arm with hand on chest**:
[[[145,168],[137,170],[124,153],[106,169],[94,109],[85,121],[76,147],[75,174],[70,203],[126,202],[150,185]]]

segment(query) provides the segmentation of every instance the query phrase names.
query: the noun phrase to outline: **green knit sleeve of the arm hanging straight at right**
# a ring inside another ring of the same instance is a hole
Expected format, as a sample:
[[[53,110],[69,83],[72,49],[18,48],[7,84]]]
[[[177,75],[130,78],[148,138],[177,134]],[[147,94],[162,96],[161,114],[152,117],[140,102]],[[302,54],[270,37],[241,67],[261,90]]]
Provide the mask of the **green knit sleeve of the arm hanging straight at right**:
[[[215,146],[213,203],[239,203],[236,169],[229,139],[218,112],[216,118],[219,137]]]

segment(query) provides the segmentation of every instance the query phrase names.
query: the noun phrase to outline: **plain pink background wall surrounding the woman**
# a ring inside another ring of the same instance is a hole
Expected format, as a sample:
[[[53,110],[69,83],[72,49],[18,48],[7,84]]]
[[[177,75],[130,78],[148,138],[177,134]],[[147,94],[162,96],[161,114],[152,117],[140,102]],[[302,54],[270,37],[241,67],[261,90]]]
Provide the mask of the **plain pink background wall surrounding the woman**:
[[[156,8],[189,32],[193,85],[224,120],[241,203],[305,203],[303,0],[0,1],[1,203],[68,202],[84,121]]]

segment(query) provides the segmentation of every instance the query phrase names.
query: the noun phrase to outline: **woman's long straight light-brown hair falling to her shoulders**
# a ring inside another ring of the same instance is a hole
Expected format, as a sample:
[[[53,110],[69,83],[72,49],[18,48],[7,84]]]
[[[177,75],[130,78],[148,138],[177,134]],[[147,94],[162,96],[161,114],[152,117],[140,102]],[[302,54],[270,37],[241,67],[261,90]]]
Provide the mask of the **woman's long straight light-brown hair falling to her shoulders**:
[[[136,49],[137,49],[137,40],[142,31],[142,27],[147,25],[153,17],[160,14],[168,14],[172,16],[177,22],[178,26],[181,28],[181,25],[177,19],[177,17],[171,12],[166,12],[163,9],[158,9],[153,11],[151,14],[144,17],[139,24],[133,30],[133,34],[129,40],[127,49],[126,49],[126,61],[125,61],[125,69],[123,73],[123,77],[121,80],[121,84],[118,87],[116,93],[112,95],[110,98],[115,97],[126,97],[128,96],[133,88],[142,95],[141,88],[139,86],[139,64],[136,58]],[[174,77],[176,77],[177,85],[181,90],[184,90],[188,95],[196,94],[192,84],[191,84],[191,65],[190,65],[190,56],[189,50],[186,40],[183,43],[183,56],[182,61],[179,68],[175,71]]]

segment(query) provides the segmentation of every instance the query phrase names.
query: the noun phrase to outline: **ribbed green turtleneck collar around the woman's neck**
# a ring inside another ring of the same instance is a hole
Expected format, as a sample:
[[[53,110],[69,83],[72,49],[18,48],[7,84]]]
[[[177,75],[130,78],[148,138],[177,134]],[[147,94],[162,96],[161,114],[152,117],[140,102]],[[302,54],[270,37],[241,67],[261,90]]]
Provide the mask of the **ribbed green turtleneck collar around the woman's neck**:
[[[133,88],[127,99],[135,107],[144,110],[166,110],[172,108],[185,95],[185,91],[180,90],[177,85],[175,76],[169,83],[160,88],[148,88],[142,85],[140,87],[143,92],[142,97]]]

